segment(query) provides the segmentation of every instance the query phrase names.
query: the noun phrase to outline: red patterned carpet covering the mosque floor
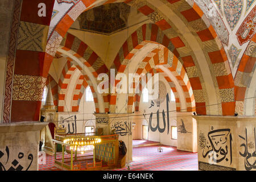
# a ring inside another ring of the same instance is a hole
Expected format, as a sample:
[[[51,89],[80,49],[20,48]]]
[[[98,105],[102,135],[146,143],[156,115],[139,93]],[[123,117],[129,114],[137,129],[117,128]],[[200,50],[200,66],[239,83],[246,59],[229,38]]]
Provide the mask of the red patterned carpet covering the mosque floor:
[[[159,146],[133,148],[133,162],[130,169],[134,171],[195,171],[198,170],[197,153],[179,151],[176,147],[161,146],[163,152],[158,152]],[[54,156],[46,156],[46,165],[39,165],[39,171],[56,171]],[[114,169],[115,171],[127,168]]]

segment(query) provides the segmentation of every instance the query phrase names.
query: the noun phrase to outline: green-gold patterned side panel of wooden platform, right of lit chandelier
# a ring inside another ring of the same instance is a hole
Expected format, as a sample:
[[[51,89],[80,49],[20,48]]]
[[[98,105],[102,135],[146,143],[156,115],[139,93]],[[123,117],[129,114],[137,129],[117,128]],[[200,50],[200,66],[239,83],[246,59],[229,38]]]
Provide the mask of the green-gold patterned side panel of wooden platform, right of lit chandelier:
[[[108,162],[114,159],[114,143],[97,144],[95,146],[96,159]]]

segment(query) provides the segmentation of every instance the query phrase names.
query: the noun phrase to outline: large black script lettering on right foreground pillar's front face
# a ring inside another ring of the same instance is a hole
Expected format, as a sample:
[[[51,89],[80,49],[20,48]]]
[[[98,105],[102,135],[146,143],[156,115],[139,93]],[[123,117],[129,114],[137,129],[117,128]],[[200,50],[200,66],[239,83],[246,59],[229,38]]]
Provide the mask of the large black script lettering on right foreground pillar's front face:
[[[223,160],[232,164],[232,134],[230,129],[218,129],[208,133],[205,142],[203,134],[200,134],[200,147],[203,149],[203,158],[209,158],[210,164],[220,163]]]

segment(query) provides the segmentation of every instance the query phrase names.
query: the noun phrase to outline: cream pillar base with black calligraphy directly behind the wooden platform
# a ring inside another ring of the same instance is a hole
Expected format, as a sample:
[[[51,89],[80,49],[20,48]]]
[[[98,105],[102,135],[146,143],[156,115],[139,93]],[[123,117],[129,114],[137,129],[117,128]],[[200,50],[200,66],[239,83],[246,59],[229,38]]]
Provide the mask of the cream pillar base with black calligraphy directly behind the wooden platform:
[[[127,148],[126,162],[131,162],[133,160],[132,119],[127,117],[128,114],[94,115],[96,116],[96,129],[102,127],[104,135],[110,135],[112,131],[115,131],[115,134],[118,134],[118,140],[125,142]]]

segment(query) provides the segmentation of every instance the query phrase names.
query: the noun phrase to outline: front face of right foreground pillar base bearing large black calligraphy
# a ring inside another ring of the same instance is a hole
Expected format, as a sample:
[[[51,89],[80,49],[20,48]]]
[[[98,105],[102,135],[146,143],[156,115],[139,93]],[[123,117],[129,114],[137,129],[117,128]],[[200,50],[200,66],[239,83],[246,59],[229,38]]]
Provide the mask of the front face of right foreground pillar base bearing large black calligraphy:
[[[236,122],[230,123],[197,119],[199,169],[236,170]]]

